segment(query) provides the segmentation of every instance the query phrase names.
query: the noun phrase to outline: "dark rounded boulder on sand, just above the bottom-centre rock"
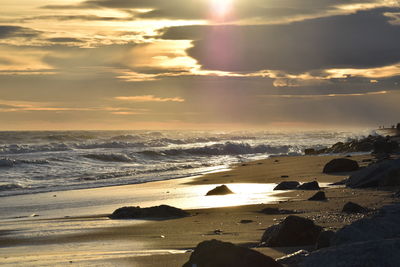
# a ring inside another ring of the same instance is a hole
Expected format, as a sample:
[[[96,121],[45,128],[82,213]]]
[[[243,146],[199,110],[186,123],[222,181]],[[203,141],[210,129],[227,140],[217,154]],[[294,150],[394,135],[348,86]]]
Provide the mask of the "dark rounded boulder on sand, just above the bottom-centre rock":
[[[261,238],[261,245],[268,247],[290,247],[314,245],[322,227],[312,220],[288,216],[281,223],[267,228]]]

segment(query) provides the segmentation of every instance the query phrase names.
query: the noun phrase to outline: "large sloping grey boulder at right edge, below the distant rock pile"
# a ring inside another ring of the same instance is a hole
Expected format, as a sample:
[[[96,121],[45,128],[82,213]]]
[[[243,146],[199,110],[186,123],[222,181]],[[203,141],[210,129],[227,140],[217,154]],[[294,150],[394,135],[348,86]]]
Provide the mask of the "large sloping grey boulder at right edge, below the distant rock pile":
[[[400,159],[385,160],[352,174],[348,187],[365,188],[400,185]]]

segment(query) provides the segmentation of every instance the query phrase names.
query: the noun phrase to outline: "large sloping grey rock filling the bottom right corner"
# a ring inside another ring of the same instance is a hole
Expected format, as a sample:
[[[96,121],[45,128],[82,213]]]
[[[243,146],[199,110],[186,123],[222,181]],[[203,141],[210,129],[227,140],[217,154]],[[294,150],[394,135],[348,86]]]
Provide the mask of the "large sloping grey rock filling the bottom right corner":
[[[400,239],[367,241],[320,249],[305,257],[298,266],[400,266]]]

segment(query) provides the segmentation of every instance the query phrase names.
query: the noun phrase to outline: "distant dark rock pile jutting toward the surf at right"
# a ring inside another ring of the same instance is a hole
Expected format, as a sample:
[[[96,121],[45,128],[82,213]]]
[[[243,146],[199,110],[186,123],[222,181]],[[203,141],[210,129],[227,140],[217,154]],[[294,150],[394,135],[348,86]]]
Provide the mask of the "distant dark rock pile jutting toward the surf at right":
[[[372,136],[362,139],[352,139],[347,142],[338,142],[331,147],[323,149],[309,148],[304,151],[306,155],[328,154],[328,153],[351,153],[351,152],[373,152],[394,153],[399,152],[399,144],[390,137]]]

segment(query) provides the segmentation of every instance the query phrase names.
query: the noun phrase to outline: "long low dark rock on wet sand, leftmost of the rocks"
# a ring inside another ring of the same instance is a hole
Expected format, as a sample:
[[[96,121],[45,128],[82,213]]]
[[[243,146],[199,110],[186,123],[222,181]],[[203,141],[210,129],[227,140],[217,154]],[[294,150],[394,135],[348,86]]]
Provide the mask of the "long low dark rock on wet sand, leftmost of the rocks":
[[[177,218],[186,217],[190,214],[184,210],[167,205],[161,205],[150,208],[123,207],[115,210],[109,217],[111,219],[139,219],[139,218]]]

